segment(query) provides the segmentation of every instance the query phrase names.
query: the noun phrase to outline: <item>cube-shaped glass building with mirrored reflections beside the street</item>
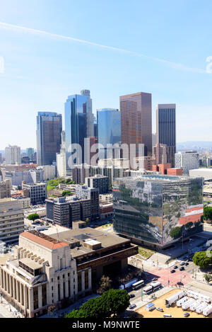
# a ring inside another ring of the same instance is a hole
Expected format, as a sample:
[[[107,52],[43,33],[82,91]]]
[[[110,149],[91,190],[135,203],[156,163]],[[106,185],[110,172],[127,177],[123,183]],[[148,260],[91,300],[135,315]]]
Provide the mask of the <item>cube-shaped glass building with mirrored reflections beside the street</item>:
[[[203,178],[115,179],[113,196],[114,230],[132,241],[163,247],[201,230]]]

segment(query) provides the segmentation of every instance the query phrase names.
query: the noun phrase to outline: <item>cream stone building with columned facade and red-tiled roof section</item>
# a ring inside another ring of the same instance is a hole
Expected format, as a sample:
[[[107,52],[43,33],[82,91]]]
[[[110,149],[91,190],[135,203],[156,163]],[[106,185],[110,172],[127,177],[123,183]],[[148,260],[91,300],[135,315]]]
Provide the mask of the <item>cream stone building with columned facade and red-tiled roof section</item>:
[[[51,305],[59,309],[76,302],[92,292],[103,274],[119,275],[127,258],[138,253],[127,239],[81,228],[82,222],[75,226],[25,231],[15,258],[0,266],[1,294],[25,316],[40,316]]]

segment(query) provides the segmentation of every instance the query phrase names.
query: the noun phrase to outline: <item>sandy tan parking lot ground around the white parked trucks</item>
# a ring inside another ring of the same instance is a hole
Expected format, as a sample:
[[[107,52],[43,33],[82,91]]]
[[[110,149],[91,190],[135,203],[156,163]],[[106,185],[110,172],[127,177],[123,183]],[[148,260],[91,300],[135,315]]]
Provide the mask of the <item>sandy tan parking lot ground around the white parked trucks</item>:
[[[141,307],[140,309],[136,310],[136,313],[139,315],[139,317],[143,318],[163,318],[164,314],[171,314],[173,318],[185,318],[184,313],[188,312],[189,317],[187,318],[212,318],[212,314],[205,317],[203,314],[196,314],[196,311],[190,311],[189,309],[183,310],[181,307],[177,307],[176,304],[173,304],[172,307],[166,308],[165,307],[165,299],[167,297],[172,296],[173,294],[179,292],[179,290],[172,290],[171,292],[168,292],[167,294],[163,295],[159,299],[155,299],[155,301],[152,301],[151,303],[155,304],[155,307],[160,307],[163,309],[163,312],[160,312],[156,309],[153,311],[146,311],[146,307]]]

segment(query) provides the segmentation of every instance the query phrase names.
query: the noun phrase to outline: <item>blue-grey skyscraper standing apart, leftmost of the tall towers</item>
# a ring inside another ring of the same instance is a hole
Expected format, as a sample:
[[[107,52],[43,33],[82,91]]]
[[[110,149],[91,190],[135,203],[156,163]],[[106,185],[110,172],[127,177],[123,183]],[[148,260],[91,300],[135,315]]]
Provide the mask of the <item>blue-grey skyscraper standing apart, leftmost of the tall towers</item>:
[[[52,165],[61,144],[61,114],[37,113],[37,165]]]

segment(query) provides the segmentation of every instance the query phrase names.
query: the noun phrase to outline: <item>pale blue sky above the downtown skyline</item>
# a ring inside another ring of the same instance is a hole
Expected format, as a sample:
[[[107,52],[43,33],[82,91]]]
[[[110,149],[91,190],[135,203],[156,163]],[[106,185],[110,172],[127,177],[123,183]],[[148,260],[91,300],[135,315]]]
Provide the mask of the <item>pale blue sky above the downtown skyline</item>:
[[[211,0],[0,0],[0,149],[36,148],[37,111],[90,90],[177,105],[177,142],[212,141]]]

